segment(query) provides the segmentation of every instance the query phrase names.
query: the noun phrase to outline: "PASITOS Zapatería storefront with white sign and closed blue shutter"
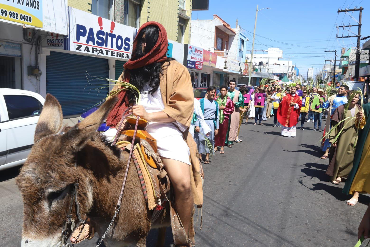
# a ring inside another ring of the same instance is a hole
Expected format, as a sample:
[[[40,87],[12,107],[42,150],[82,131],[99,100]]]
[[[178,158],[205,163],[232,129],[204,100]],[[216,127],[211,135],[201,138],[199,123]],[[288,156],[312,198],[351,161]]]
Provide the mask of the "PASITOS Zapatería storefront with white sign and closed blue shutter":
[[[131,57],[137,29],[68,7],[68,39],[47,37],[43,45],[46,93],[60,102],[65,116],[80,115],[104,101]]]

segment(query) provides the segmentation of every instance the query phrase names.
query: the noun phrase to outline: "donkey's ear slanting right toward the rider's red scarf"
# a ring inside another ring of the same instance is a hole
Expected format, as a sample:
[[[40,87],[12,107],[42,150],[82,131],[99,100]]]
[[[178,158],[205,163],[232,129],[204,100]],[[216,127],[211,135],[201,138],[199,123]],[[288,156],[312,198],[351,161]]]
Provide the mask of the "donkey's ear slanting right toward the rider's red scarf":
[[[117,96],[107,99],[98,110],[91,113],[90,116],[86,117],[73,128],[70,128],[70,130],[63,135],[65,147],[71,148],[74,152],[80,151],[86,145],[87,141],[96,133],[117,101]]]

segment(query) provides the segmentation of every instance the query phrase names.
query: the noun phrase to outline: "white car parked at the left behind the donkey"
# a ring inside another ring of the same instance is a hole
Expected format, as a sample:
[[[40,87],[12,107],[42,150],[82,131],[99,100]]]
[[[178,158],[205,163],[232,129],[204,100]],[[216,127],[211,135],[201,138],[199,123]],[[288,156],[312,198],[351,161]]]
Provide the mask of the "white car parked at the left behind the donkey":
[[[38,93],[0,88],[0,171],[26,161],[44,103]]]

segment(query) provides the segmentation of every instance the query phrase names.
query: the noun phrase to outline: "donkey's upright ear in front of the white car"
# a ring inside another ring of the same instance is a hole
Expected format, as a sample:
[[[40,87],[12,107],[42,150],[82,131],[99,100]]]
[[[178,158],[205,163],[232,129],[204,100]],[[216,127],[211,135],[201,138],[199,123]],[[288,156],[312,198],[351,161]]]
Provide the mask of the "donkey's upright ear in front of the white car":
[[[58,133],[62,125],[63,113],[58,100],[51,94],[46,95],[46,100],[38,119],[34,142],[51,134]]]

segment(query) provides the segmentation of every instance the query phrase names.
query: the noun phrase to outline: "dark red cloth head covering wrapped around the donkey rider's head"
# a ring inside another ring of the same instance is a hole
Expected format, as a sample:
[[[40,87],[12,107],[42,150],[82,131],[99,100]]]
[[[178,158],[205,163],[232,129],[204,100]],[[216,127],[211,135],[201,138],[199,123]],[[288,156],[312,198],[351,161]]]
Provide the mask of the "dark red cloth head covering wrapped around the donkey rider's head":
[[[138,33],[145,27],[152,25],[152,26],[157,26],[159,29],[159,35],[158,35],[158,40],[155,46],[151,51],[149,51],[145,56],[137,59],[137,60],[131,60],[129,59],[125,64],[124,64],[124,69],[126,71],[124,72],[124,81],[129,82],[130,80],[130,74],[128,70],[132,69],[138,69],[144,66],[147,66],[148,64],[152,63],[158,63],[158,62],[163,62],[167,59],[167,49],[168,49],[168,40],[167,40],[167,32],[164,26],[161,23],[155,22],[155,21],[149,21],[145,24],[143,24]],[[134,40],[134,43],[132,44],[132,51],[136,49],[141,49],[141,47],[137,47],[137,36]],[[126,95],[126,91],[122,90],[118,94],[118,101],[117,104],[113,107],[111,112],[108,114],[107,117],[107,126],[110,127],[115,127],[117,126],[117,123],[121,121],[122,119],[122,114],[128,107],[128,97]]]

